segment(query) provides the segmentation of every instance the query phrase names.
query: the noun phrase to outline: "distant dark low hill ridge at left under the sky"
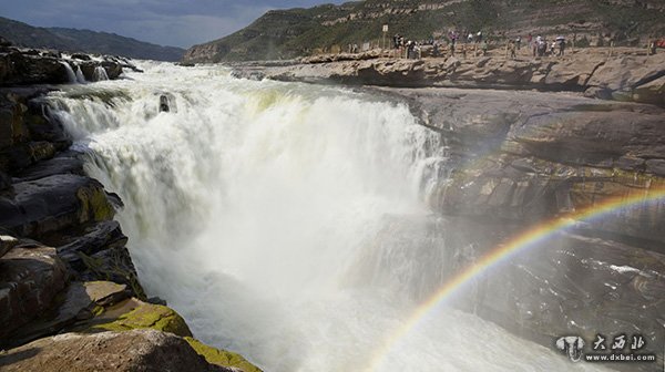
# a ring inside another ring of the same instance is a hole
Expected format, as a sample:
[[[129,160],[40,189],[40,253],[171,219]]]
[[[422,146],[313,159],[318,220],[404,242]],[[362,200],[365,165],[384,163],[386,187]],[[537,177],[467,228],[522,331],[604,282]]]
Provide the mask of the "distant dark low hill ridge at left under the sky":
[[[161,46],[114,33],[62,28],[35,28],[0,17],[0,35],[18,45],[123,55],[134,59],[178,61],[184,50]]]

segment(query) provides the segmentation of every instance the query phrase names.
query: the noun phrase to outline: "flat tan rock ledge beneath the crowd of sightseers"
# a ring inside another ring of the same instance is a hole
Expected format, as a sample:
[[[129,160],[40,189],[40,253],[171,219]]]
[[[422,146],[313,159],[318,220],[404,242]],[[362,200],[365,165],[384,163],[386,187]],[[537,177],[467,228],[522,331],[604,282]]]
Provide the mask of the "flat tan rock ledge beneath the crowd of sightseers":
[[[610,55],[612,53],[612,55]],[[327,54],[285,65],[242,63],[234,75],[309,83],[391,87],[477,87],[583,93],[589,97],[665,106],[665,53],[640,49],[581,49],[563,58],[488,55],[407,60],[379,52]]]

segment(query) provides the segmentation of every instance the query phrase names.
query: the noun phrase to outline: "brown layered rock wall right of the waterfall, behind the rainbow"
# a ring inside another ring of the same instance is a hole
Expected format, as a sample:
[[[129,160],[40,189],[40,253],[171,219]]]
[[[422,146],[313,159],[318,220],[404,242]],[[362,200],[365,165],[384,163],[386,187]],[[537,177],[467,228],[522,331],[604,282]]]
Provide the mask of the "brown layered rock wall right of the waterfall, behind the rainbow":
[[[546,347],[562,334],[643,334],[659,364],[625,369],[662,365],[665,110],[552,93],[382,91],[446,138],[447,176],[429,204],[449,229],[426,234],[469,250],[450,257],[448,278],[531,227],[576,220],[477,278],[457,306]],[[636,196],[630,207],[577,219]]]

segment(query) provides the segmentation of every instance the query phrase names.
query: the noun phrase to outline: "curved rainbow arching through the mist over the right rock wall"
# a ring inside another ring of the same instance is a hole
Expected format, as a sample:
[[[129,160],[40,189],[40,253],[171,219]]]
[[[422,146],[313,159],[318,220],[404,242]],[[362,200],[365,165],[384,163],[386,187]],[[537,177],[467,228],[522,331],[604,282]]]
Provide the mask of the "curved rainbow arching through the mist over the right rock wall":
[[[428,313],[432,312],[437,307],[452,297],[456,292],[463,288],[466,283],[470,282],[473,278],[478,277],[490,268],[501,265],[520,251],[523,251],[528,248],[538,247],[539,242],[546,240],[559,231],[572,227],[574,224],[581,220],[602,217],[613,211],[661,199],[665,200],[665,188],[642,190],[631,195],[608,198],[580,211],[575,211],[563,217],[556,217],[539,224],[495,247],[487,255],[482,256],[473,265],[469,266],[454,278],[446,282],[427,301],[418,306],[407,321],[405,321],[400,328],[393,331],[391,335],[382,343],[378,352],[374,354],[374,358],[370,360],[368,371],[376,371],[381,365],[383,359],[389,355],[393,349],[396,349],[400,340],[403,339],[420,322],[427,319]]]

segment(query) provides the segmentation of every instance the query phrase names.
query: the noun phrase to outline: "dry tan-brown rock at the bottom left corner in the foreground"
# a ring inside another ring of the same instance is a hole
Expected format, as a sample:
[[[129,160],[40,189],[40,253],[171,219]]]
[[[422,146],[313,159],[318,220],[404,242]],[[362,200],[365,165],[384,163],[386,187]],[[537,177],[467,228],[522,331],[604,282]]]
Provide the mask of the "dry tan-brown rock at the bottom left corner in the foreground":
[[[233,371],[209,364],[184,339],[154,330],[65,333],[0,354],[3,371]]]

